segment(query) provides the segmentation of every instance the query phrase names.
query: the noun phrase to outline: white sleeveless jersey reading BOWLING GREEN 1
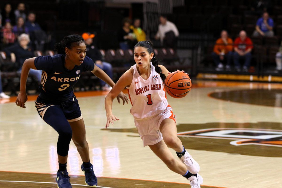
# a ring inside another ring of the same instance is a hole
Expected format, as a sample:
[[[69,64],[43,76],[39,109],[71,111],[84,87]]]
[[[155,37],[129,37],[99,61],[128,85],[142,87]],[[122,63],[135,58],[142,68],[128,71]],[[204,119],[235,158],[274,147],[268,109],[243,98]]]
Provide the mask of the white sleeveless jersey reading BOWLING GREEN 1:
[[[134,69],[131,85],[127,87],[129,99],[131,101],[130,113],[134,118],[144,119],[161,113],[168,106],[164,84],[160,74],[155,71],[151,63],[151,75],[144,80]]]

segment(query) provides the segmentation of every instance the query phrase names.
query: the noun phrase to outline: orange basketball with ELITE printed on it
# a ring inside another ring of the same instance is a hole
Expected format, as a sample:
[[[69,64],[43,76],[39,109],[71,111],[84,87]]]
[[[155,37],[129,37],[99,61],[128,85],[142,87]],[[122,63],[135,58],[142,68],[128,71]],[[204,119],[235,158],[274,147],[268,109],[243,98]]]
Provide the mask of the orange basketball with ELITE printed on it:
[[[173,98],[185,97],[189,93],[191,86],[191,79],[184,72],[172,72],[164,82],[164,89]]]

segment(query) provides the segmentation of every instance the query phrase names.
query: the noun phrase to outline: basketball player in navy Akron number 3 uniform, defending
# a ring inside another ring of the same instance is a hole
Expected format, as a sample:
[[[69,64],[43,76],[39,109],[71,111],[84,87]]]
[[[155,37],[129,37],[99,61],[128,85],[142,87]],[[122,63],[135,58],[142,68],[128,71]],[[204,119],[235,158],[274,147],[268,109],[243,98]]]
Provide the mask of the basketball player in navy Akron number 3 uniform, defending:
[[[57,153],[59,170],[56,182],[59,188],[71,188],[67,172],[67,157],[70,140],[72,139],[82,159],[81,169],[85,174],[88,187],[97,186],[97,178],[90,163],[89,147],[85,139],[85,125],[78,100],[73,93],[73,86],[78,82],[82,72],[90,70],[98,78],[111,87],[114,82],[109,76],[94,65],[86,56],[85,41],[80,35],[65,37],[55,46],[58,54],[26,59],[21,72],[20,92],[16,100],[19,107],[25,108],[27,101],[26,82],[29,70],[42,70],[40,94],[35,100],[39,116],[51,125],[59,134]],[[120,98],[128,103],[127,97],[121,92]]]

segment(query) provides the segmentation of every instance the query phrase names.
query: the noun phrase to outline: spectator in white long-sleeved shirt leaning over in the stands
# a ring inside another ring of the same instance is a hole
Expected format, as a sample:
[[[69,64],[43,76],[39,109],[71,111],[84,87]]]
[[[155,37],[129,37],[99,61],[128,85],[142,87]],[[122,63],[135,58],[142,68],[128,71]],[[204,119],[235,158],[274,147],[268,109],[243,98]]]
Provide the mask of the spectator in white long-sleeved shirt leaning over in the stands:
[[[177,45],[177,37],[179,32],[174,23],[167,20],[165,15],[160,16],[160,25],[155,39],[160,39],[161,45],[165,47],[175,48]]]

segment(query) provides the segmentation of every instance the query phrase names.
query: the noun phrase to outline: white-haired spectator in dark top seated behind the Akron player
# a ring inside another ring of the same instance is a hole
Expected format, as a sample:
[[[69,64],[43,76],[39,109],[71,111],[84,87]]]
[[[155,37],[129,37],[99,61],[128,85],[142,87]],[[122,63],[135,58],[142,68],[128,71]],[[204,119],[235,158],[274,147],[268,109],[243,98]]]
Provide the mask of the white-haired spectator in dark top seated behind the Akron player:
[[[19,72],[21,72],[23,62],[28,58],[34,57],[34,51],[28,46],[29,42],[29,36],[23,33],[18,37],[18,43],[4,49],[7,56],[11,57],[11,61],[13,63],[16,63],[15,67],[19,68]],[[31,76],[35,77],[38,83],[40,83],[41,81],[41,73],[41,70],[34,69],[30,69],[29,72]]]

